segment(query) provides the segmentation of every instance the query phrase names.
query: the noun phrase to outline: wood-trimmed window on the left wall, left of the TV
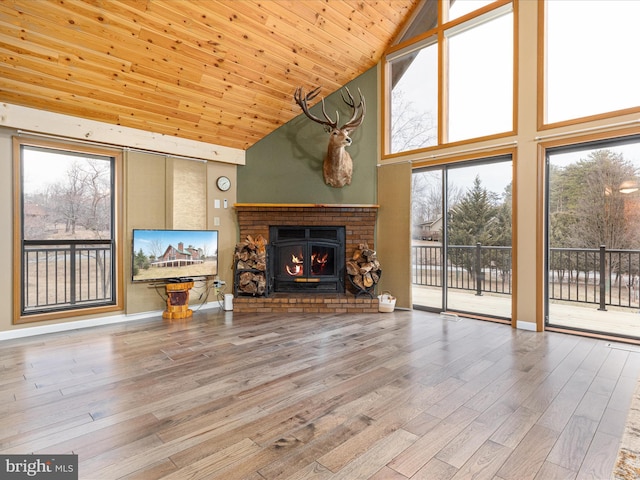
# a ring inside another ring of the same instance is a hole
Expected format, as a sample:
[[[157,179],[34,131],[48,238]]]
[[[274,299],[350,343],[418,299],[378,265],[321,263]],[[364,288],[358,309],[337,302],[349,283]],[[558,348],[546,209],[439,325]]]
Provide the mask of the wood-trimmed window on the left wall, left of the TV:
[[[16,322],[118,308],[120,156],[38,141],[15,153]]]

